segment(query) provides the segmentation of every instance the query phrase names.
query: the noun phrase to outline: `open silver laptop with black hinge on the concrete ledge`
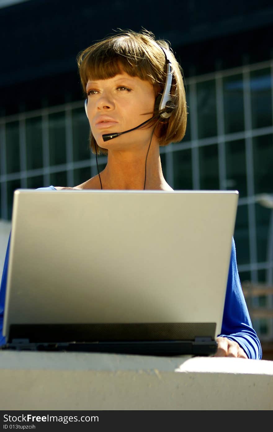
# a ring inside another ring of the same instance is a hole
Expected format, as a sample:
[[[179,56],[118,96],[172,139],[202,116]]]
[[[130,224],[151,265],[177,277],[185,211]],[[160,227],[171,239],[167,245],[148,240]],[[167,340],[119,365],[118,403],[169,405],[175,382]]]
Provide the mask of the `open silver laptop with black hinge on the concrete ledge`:
[[[14,192],[2,349],[213,355],[238,191]]]

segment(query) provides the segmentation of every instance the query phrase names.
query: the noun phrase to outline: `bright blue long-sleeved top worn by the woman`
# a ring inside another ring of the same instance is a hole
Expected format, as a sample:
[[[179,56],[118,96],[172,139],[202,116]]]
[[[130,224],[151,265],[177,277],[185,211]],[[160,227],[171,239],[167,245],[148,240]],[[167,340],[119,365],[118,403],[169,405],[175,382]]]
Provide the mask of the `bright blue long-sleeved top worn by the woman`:
[[[54,186],[41,187],[40,191],[56,190]],[[6,278],[8,270],[10,251],[10,238],[6,250],[1,286],[0,286],[0,345],[5,343],[5,337],[2,335],[3,329],[3,311],[6,294]],[[222,330],[219,336],[228,337],[237,342],[244,349],[249,359],[261,359],[262,349],[260,340],[252,327],[249,317],[248,308],[244,299],[239,279],[235,242],[232,238],[232,251],[229,265],[229,276],[227,290],[225,295],[225,307],[222,320]]]

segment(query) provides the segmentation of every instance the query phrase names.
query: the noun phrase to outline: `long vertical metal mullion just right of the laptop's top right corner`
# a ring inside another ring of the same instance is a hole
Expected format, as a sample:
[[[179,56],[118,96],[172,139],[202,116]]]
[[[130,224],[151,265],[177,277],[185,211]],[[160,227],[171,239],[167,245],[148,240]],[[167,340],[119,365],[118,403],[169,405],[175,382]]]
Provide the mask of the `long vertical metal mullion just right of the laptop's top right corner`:
[[[250,97],[250,73],[249,70],[243,72],[243,95],[244,95],[244,124],[246,129],[246,175],[247,175],[247,191],[248,197],[254,196],[254,172],[253,172],[253,142],[251,134],[248,131],[252,129],[251,119],[251,97]],[[249,250],[250,264],[257,262],[257,239],[256,239],[256,217],[255,204],[248,203],[248,235],[249,235]],[[251,269],[251,282],[257,283],[258,272]],[[254,305],[253,305],[254,306]]]

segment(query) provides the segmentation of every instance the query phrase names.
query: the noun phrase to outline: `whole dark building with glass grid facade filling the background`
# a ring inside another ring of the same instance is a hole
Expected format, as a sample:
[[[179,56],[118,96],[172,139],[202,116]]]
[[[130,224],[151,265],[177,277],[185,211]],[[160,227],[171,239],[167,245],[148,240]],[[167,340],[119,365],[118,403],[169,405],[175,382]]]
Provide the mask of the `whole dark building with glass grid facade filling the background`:
[[[18,187],[74,186],[96,174],[76,55],[116,29],[141,28],[171,42],[187,88],[186,136],[161,149],[166,180],[175,189],[237,189],[241,282],[273,286],[270,1],[3,1],[0,218],[10,219]],[[272,341],[272,294],[247,301],[260,338]]]

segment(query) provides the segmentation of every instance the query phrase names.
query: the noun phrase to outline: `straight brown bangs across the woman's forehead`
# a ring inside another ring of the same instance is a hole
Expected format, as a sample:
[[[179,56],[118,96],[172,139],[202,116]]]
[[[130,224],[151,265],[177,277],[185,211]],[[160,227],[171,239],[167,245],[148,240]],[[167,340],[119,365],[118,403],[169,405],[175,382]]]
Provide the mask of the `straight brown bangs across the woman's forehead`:
[[[156,60],[153,52],[156,47],[145,49],[143,45],[128,36],[117,36],[100,41],[80,53],[77,60],[83,91],[86,92],[89,79],[96,81],[113,78],[123,71],[130,76],[147,80],[152,85],[164,84],[163,77],[157,73],[157,70],[164,70],[164,56],[159,52]]]

